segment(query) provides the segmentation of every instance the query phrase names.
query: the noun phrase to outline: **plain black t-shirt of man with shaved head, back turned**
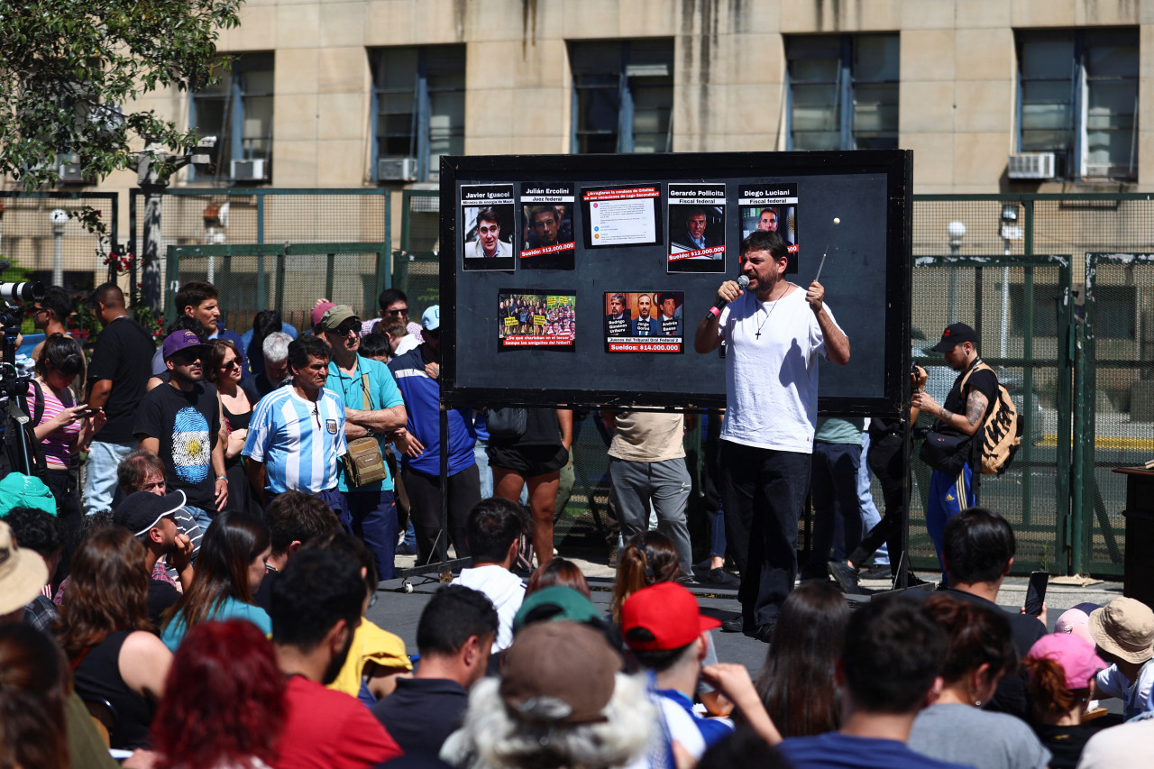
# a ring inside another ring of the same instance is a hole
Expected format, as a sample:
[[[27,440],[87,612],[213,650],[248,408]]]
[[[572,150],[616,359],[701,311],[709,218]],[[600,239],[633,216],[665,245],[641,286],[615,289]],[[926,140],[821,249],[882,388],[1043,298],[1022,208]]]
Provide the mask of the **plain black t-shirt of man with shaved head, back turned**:
[[[104,404],[108,421],[92,440],[104,443],[127,443],[133,440],[136,408],[144,397],[144,386],[152,374],[156,344],[144,327],[132,318],[118,318],[100,331],[88,367],[89,393],[96,380],[112,381],[112,391]]]

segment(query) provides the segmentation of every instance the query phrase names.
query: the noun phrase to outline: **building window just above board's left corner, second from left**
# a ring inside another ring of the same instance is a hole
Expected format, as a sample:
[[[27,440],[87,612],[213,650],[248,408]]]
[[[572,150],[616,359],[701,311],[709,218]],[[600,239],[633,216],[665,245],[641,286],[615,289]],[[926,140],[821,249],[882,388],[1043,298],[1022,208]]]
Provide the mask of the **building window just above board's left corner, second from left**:
[[[465,154],[465,46],[379,48],[370,59],[373,157],[413,158],[415,179],[436,181],[442,155]]]

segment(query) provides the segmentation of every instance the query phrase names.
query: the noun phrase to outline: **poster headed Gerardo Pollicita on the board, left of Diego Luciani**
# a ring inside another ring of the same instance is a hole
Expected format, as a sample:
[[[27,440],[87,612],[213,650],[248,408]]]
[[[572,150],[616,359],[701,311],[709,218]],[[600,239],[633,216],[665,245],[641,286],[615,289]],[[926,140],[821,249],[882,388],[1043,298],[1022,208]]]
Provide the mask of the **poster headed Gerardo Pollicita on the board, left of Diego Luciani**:
[[[725,185],[669,185],[669,272],[725,271]]]

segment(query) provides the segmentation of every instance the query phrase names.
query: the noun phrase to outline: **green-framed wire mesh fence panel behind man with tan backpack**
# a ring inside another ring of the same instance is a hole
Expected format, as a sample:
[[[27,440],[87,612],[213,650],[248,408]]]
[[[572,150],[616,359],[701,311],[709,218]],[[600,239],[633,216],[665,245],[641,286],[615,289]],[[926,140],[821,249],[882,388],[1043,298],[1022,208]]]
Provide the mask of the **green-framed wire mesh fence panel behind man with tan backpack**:
[[[913,358],[929,373],[927,393],[943,403],[959,375],[930,348],[946,324],[961,321],[977,330],[979,354],[994,367],[1022,417],[1021,449],[1004,475],[981,478],[979,501],[1011,522],[1018,536],[1016,565],[1026,570],[1066,569],[1070,363],[1062,350],[1070,326],[1069,262],[921,256],[913,274]],[[932,421],[921,417],[919,425]],[[926,530],[930,469],[916,458],[920,442],[912,461],[911,557],[915,566],[936,568]]]

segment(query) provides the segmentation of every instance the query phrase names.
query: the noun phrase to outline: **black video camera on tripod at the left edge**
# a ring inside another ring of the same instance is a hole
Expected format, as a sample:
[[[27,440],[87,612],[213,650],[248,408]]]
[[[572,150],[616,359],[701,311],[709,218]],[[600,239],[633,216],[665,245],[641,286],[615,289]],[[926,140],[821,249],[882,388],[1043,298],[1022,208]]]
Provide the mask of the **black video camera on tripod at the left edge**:
[[[12,267],[12,263],[0,259],[0,272]],[[16,338],[24,320],[24,307],[17,303],[35,301],[44,298],[44,284],[0,283],[0,342],[3,360],[0,363],[0,427],[3,430],[3,451],[0,456],[0,469],[16,470],[32,475],[35,468],[30,448],[35,435],[31,435],[31,411],[28,409],[28,388],[31,376],[21,376],[16,368]],[[33,384],[35,386],[35,384]]]

